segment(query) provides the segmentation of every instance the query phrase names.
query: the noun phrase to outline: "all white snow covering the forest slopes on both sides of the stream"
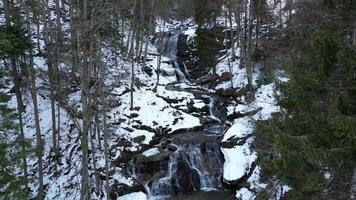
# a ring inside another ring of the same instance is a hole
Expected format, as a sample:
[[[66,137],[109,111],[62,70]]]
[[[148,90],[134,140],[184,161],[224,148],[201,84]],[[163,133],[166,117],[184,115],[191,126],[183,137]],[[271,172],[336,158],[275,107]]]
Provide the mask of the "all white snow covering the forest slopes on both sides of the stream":
[[[175,26],[171,24],[160,23],[160,19],[157,19],[159,26],[156,31],[174,30]],[[191,20],[184,22],[188,27],[185,30],[185,34],[188,35],[188,40],[191,40],[195,36],[195,26]],[[112,100],[117,102],[117,106],[113,107],[108,113],[109,123],[111,129],[114,130],[110,135],[110,150],[111,161],[115,161],[122,156],[124,151],[137,152],[142,150],[143,147],[148,146],[151,140],[157,136],[157,134],[169,134],[177,130],[184,130],[195,128],[201,125],[199,118],[184,112],[184,108],[189,102],[194,102],[196,108],[203,108],[207,106],[204,102],[194,99],[194,95],[188,92],[170,91],[165,88],[166,85],[175,83],[177,81],[174,69],[170,64],[164,61],[168,61],[168,58],[163,57],[161,70],[165,71],[170,76],[160,75],[160,85],[157,88],[157,92],[153,91],[157,77],[154,73],[157,68],[157,53],[156,48],[150,44],[149,52],[153,55],[149,55],[150,60],[147,65],[152,70],[153,75],[147,74],[139,64],[135,64],[135,75],[139,84],[135,84],[134,96],[134,108],[130,110],[130,93],[126,92],[129,88],[129,78],[119,79],[120,74],[130,76],[131,63],[121,60],[116,67],[112,68],[111,76],[106,80],[110,85],[120,85],[113,89]],[[238,52],[238,51],[237,51]],[[107,52],[103,52],[107,53]],[[42,70],[46,70],[45,61],[42,58],[36,58],[36,66]],[[121,67],[119,67],[121,66]],[[123,67],[122,67],[123,66]],[[217,65],[217,71],[222,74],[228,69],[228,60],[224,59]],[[233,87],[243,88],[247,84],[245,69],[240,69],[238,61],[233,63]],[[260,72],[256,69],[254,73],[253,81],[254,86],[258,87],[254,95],[252,102],[247,102],[244,96],[240,97],[239,102],[243,104],[231,104],[228,107],[229,113],[246,113],[256,109],[259,109],[257,113],[252,116],[246,116],[236,119],[233,122],[232,127],[224,134],[223,142],[238,139],[244,140],[243,144],[235,145],[233,148],[222,148],[222,152],[225,157],[224,163],[224,179],[226,181],[238,180],[246,173],[252,171],[252,175],[249,177],[248,182],[250,188],[241,188],[236,192],[237,198],[252,199],[253,191],[257,191],[260,188],[264,188],[265,184],[259,181],[259,167],[252,169],[252,163],[256,160],[256,152],[251,150],[250,146],[253,143],[253,123],[256,120],[266,120],[272,113],[278,112],[279,107],[276,105],[275,100],[275,84],[257,86],[256,81],[259,78]],[[281,79],[281,81],[286,81]],[[75,120],[70,116],[68,110],[61,109],[61,142],[60,149],[62,156],[60,157],[58,164],[53,162],[53,156],[51,153],[52,147],[52,135],[51,135],[51,109],[50,98],[48,94],[48,88],[43,87],[44,80],[38,79],[37,86],[41,88],[38,93],[38,104],[40,109],[40,123],[41,133],[45,142],[44,149],[44,172],[46,185],[46,197],[45,199],[78,199],[80,191],[80,166],[81,166],[81,151],[79,143],[78,131],[73,128]],[[181,85],[182,87],[191,87],[189,85]],[[231,87],[230,82],[224,82],[219,84],[215,89]],[[169,103],[168,100],[174,100],[178,103]],[[80,92],[76,91],[69,95],[69,104],[76,109],[80,109]],[[35,128],[33,120],[33,106],[30,94],[25,95],[26,112],[24,116],[25,133],[26,138],[35,138]],[[12,99],[11,105],[15,107],[16,100]],[[145,127],[149,127],[146,130]],[[167,131],[164,131],[167,130]],[[162,132],[163,131],[163,132]],[[143,140],[137,141],[140,136],[144,136]],[[123,139],[128,144],[121,145],[119,140]],[[35,141],[32,140],[33,145]],[[95,142],[95,146],[98,143]],[[120,146],[121,145],[121,146]],[[90,146],[90,144],[89,144]],[[97,161],[98,168],[104,167],[104,157],[102,151],[97,150],[95,160]],[[146,156],[157,153],[157,149],[150,149],[143,154]],[[90,156],[90,162],[92,163],[92,157]],[[36,158],[31,157],[28,159],[29,171],[31,175],[31,190],[33,195],[36,194],[37,185],[37,165]],[[130,176],[124,173],[124,169],[119,166],[114,166],[111,163],[111,169],[115,171],[110,176],[110,183],[118,182],[127,186],[132,186],[133,180]],[[90,167],[90,177],[94,178],[93,167]],[[103,188],[102,188],[103,189]],[[285,189],[287,190],[287,188]],[[100,197],[96,197],[99,199]],[[105,197],[103,197],[105,198]],[[143,192],[136,192],[119,197],[120,200],[129,199],[147,199],[147,195]]]

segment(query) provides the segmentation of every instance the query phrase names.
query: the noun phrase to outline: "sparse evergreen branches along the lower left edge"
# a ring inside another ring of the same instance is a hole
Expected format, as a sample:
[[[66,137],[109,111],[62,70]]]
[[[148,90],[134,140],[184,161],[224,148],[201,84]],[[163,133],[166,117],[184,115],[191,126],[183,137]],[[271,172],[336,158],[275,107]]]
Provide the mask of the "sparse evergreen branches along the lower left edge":
[[[5,92],[9,79],[4,69],[0,69],[0,80],[0,198],[25,199],[26,179],[16,172],[24,167],[26,155],[20,149],[16,111],[8,106],[11,96]]]

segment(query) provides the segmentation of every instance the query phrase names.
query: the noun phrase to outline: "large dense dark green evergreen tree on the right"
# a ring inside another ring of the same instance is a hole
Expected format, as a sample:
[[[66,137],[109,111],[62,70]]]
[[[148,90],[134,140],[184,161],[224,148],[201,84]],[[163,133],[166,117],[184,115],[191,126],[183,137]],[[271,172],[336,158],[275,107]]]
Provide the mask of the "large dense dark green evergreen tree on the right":
[[[282,112],[257,125],[257,138],[269,140],[257,143],[260,163],[292,188],[287,199],[351,196],[356,48],[345,41],[347,23],[332,24],[295,40],[287,65],[291,79],[281,86]]]

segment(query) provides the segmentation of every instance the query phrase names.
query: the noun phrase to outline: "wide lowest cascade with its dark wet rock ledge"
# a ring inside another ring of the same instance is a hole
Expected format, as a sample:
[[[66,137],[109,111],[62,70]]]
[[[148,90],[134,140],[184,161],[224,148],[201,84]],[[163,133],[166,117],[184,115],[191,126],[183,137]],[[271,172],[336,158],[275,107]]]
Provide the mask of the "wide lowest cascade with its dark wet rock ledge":
[[[199,135],[196,137],[199,138]],[[148,165],[155,166],[156,170],[153,170],[153,173],[143,173],[147,170],[135,168],[133,175],[137,180],[145,183],[150,200],[167,199],[177,194],[194,191],[219,190],[222,187],[223,158],[219,144],[213,140],[176,144],[178,146],[176,151],[161,152],[162,155],[169,152],[168,162],[157,160],[160,155],[156,155],[146,158],[145,164],[139,164],[147,168],[150,168]],[[166,157],[162,156],[161,159],[165,160]],[[154,163],[146,164],[149,162]]]

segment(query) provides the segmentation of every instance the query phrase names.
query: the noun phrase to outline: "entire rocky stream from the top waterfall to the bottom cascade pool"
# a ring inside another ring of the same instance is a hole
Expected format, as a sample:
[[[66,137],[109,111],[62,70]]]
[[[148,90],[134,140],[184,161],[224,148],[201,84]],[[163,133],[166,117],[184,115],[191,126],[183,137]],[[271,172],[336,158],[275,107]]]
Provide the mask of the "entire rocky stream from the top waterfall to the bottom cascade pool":
[[[151,200],[233,199],[233,192],[226,190],[223,184],[224,158],[220,141],[227,127],[223,123],[224,114],[217,107],[220,99],[189,80],[185,65],[177,56],[179,33],[166,32],[161,37],[156,45],[170,59],[177,77],[177,83],[166,89],[192,93],[208,109],[198,113],[205,121],[199,131],[162,137],[156,145],[159,153],[136,157],[132,174],[144,184]]]

